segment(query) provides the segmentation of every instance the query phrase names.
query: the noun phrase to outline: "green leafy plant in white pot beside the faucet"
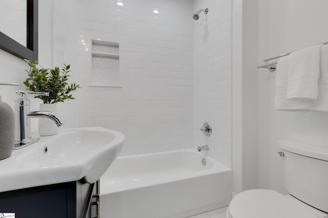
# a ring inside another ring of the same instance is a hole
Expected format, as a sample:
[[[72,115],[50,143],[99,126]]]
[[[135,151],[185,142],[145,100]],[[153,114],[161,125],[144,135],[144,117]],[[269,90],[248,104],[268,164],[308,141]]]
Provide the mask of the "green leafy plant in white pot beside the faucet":
[[[40,110],[57,112],[56,103],[64,102],[66,100],[73,100],[71,92],[80,88],[78,84],[67,81],[70,77],[70,64],[64,64],[64,67],[54,67],[53,69],[43,68],[38,65],[38,61],[31,61],[25,59],[28,63],[25,71],[28,74],[28,78],[23,82],[27,86],[27,90],[35,92],[49,92],[49,96],[35,95],[34,98],[43,101],[40,104]],[[54,135],[58,131],[57,126],[47,118],[39,118],[40,135]]]

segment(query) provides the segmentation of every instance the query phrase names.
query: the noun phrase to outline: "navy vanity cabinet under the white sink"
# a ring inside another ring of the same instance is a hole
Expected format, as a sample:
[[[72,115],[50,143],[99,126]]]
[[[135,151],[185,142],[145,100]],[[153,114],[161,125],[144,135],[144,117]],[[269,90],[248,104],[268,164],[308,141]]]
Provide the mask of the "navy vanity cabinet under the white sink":
[[[93,187],[74,181],[1,192],[0,214],[15,213],[19,218],[89,217]]]

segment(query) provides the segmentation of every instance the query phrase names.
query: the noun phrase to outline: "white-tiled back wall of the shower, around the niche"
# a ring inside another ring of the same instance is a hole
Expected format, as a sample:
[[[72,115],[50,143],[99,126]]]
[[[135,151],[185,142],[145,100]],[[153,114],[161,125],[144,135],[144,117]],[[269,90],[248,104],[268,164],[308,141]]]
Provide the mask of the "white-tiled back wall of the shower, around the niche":
[[[116,2],[78,1],[79,126],[124,133],[121,155],[191,148],[192,1]],[[88,86],[91,39],[119,43],[122,88]]]

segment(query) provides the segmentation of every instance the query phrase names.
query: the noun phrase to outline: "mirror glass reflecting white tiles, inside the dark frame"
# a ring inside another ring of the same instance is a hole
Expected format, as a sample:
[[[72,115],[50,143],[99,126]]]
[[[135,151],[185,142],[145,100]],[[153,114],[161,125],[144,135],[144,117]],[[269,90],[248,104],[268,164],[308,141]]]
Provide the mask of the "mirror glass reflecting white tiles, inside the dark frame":
[[[0,1],[0,32],[26,46],[26,1]]]

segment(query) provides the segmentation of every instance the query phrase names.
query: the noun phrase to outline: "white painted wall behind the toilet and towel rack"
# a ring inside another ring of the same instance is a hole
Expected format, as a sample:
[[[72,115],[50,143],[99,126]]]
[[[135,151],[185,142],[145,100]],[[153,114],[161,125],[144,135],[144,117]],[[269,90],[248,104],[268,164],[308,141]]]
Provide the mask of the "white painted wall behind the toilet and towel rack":
[[[286,52],[328,41],[327,1],[259,1],[259,64]],[[328,146],[328,113],[274,110],[275,72],[258,70],[259,187],[285,192],[279,139]]]

